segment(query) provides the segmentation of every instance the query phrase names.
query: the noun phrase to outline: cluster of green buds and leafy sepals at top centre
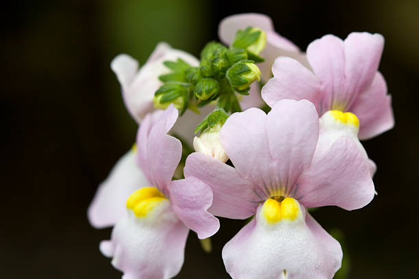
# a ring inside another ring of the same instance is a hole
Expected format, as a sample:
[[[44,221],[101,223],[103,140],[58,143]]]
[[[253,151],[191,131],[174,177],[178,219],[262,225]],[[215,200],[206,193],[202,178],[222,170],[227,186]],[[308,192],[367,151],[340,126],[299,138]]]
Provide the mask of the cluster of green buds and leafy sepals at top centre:
[[[235,92],[248,95],[251,83],[260,80],[255,62],[264,61],[258,54],[265,44],[264,31],[248,27],[238,30],[230,48],[219,42],[206,44],[198,67],[181,59],[164,62],[170,72],[159,77],[164,84],[155,92],[155,107],[165,109],[173,103],[183,114],[218,100],[218,108],[240,111]]]

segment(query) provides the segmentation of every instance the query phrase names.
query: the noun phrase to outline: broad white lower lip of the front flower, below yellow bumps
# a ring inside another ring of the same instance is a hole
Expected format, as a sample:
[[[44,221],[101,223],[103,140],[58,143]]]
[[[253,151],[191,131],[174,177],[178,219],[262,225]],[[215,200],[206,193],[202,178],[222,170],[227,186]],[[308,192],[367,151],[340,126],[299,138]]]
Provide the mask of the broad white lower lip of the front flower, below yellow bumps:
[[[301,210],[301,209],[300,209]],[[233,279],[331,279],[340,268],[342,250],[307,213],[296,220],[268,224],[257,215],[223,248],[223,261]]]

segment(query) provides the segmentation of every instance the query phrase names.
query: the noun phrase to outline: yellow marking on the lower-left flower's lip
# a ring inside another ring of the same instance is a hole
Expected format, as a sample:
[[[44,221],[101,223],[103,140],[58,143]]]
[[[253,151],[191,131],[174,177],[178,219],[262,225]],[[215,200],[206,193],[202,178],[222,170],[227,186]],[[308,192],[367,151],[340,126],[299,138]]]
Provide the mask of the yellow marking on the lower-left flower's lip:
[[[155,187],[144,187],[135,191],[127,199],[127,208],[134,210],[137,217],[144,217],[153,208],[167,200],[164,195]]]

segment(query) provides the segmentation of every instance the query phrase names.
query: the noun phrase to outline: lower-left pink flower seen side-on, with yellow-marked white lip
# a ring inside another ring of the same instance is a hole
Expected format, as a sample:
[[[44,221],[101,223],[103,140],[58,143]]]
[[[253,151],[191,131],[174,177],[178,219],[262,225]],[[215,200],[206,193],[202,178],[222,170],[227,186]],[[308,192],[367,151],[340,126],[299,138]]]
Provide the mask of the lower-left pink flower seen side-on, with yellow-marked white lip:
[[[110,241],[100,245],[123,278],[172,278],[183,264],[189,229],[205,239],[220,226],[206,211],[212,203],[210,187],[193,177],[172,181],[182,147],[167,133],[177,117],[170,105],[147,114],[138,130],[137,160],[148,183],[129,196]]]

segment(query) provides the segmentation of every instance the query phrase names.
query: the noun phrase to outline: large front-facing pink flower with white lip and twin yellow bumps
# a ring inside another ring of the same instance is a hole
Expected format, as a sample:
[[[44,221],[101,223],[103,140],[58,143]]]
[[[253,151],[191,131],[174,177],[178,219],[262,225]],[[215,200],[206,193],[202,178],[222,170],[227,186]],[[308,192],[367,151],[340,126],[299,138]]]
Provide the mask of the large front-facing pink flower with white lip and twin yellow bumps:
[[[359,209],[374,185],[353,138],[322,143],[319,126],[312,103],[282,100],[267,115],[251,108],[227,119],[219,137],[234,167],[200,152],[188,157],[186,179],[212,188],[211,213],[255,215],[223,248],[232,278],[332,278],[340,268],[338,241],[306,208]]]

